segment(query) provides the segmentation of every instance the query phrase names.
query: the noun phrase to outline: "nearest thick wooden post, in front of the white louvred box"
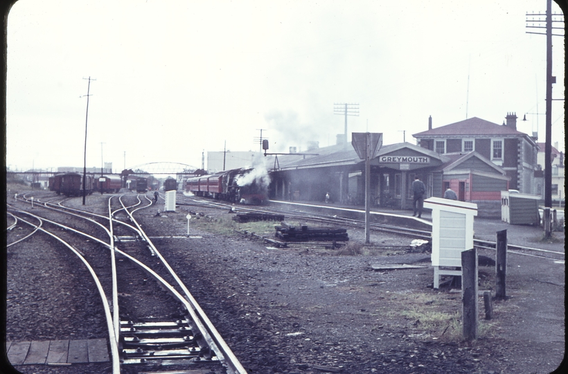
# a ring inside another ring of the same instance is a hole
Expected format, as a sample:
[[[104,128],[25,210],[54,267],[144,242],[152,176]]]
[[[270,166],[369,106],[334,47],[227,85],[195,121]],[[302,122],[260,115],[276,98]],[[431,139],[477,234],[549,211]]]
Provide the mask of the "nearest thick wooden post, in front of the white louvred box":
[[[477,249],[461,252],[462,323],[465,340],[477,338]]]

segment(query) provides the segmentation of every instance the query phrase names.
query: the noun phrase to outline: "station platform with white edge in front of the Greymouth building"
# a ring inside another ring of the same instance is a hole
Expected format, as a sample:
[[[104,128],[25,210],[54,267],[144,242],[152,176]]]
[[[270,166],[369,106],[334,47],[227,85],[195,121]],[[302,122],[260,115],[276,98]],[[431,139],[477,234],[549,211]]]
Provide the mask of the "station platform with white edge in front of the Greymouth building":
[[[323,202],[302,202],[302,201],[281,201],[270,200],[272,206],[278,206],[287,210],[302,210],[314,213],[337,215],[339,217],[364,220],[365,209],[362,206],[342,205]],[[371,222],[382,224],[393,224],[395,226],[407,227],[423,231],[432,230],[432,214],[429,209],[425,209],[422,217],[413,217],[411,210],[396,210],[393,208],[380,208],[373,206],[370,209]],[[563,217],[563,214],[562,214]],[[553,232],[554,242],[542,242],[540,238],[544,235],[541,226],[515,225],[508,224],[499,219],[474,217],[474,238],[495,242],[497,231],[507,230],[508,243],[523,247],[535,247],[542,249],[553,249],[564,251],[565,232]]]

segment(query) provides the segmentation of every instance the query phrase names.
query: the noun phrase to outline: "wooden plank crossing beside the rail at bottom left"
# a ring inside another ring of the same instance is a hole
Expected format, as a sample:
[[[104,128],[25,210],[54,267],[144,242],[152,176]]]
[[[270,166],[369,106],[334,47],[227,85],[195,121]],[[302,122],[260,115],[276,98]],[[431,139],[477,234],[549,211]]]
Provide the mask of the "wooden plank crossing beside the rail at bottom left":
[[[12,366],[109,361],[107,339],[8,341],[6,350]]]

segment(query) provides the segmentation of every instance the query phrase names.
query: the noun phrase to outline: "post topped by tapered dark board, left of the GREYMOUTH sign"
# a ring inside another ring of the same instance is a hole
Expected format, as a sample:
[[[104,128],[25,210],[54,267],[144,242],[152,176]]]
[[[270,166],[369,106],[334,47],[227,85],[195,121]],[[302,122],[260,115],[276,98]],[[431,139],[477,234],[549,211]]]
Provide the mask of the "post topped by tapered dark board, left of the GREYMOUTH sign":
[[[371,211],[371,159],[374,159],[382,146],[382,132],[353,132],[351,145],[357,156],[365,160],[365,244],[369,244],[369,215]]]

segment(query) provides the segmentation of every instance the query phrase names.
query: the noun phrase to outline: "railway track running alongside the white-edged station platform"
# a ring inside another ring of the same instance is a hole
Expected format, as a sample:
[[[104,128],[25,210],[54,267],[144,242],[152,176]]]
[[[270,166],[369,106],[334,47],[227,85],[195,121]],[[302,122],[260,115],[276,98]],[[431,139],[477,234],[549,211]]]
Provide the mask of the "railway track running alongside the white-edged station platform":
[[[188,203],[190,201],[190,203]],[[179,204],[191,204],[195,206],[207,206],[220,209],[231,209],[234,208],[231,204],[225,204],[222,202],[215,202],[211,200],[202,199],[200,197],[186,197],[183,196],[179,199]],[[286,217],[292,218],[294,220],[300,221],[311,221],[318,222],[321,224],[332,224],[340,226],[350,226],[358,229],[364,229],[365,224],[362,220],[354,220],[346,217],[329,215],[305,213],[301,211],[283,211],[274,207],[263,206],[263,208],[251,208],[249,206],[238,206],[236,208],[239,212],[249,212],[249,213],[268,213],[268,214],[284,214]],[[379,224],[376,222],[371,222],[371,229],[376,231],[384,231],[387,233],[396,233],[398,235],[405,235],[413,239],[423,239],[432,240],[432,231],[409,229],[407,227],[394,226],[388,224]],[[494,249],[496,243],[490,240],[479,240],[474,239],[474,247],[480,249]],[[524,247],[515,244],[508,244],[508,253],[513,253],[519,256],[531,256],[535,258],[544,258],[548,260],[564,261],[565,253],[560,251],[549,251],[547,249],[538,249],[534,247]]]

